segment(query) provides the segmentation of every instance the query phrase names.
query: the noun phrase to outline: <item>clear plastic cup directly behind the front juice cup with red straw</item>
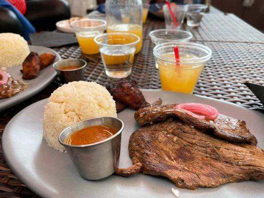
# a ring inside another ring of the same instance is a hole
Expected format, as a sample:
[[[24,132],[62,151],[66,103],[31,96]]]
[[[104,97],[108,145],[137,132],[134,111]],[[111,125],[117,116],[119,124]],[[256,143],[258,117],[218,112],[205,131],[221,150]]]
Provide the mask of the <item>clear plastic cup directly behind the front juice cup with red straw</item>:
[[[168,42],[189,42],[193,35],[188,31],[176,29],[153,30],[149,33],[152,43],[156,45]],[[158,63],[155,64],[158,69]]]

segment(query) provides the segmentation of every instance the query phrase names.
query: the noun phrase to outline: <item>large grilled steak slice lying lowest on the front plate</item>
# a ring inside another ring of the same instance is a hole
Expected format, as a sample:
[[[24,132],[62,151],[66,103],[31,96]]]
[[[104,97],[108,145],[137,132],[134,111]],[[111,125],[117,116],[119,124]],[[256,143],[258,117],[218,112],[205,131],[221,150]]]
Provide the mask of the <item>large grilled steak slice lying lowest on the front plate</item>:
[[[117,169],[117,175],[161,175],[190,190],[264,179],[261,148],[228,143],[172,118],[135,131],[129,155],[133,166]]]

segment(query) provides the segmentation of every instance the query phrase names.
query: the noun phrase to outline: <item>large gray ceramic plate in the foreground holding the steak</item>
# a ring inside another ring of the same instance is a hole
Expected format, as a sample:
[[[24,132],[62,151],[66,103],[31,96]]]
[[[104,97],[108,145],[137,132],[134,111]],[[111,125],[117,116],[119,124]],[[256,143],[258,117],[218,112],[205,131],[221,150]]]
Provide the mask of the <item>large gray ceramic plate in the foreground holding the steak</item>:
[[[215,106],[220,113],[245,120],[264,148],[264,114],[220,100],[193,95],[143,91],[147,101],[159,98],[163,103],[201,102]],[[100,181],[82,179],[68,154],[48,147],[42,139],[42,119],[47,99],[34,103],[18,113],[6,126],[2,136],[4,157],[15,175],[32,191],[43,198],[175,198],[168,179],[137,174],[129,178],[112,175]],[[120,166],[132,164],[128,156],[128,139],[138,128],[134,111],[126,109],[118,114],[125,123],[122,133]],[[264,195],[264,181],[246,181],[222,185],[214,189],[195,191],[178,189],[180,198],[260,198]]]

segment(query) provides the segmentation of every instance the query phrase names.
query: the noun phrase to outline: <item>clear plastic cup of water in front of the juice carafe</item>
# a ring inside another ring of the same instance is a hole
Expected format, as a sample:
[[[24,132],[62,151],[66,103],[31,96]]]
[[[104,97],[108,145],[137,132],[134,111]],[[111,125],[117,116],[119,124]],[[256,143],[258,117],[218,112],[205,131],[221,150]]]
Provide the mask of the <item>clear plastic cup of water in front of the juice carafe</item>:
[[[107,76],[125,78],[131,74],[139,41],[137,35],[129,33],[106,33],[95,37]]]

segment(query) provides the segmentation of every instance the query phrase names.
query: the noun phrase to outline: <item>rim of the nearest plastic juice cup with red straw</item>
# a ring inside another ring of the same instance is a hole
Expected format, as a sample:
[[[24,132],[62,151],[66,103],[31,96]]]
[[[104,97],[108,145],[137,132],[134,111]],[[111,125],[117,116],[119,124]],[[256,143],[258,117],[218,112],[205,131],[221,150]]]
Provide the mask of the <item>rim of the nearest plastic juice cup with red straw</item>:
[[[207,46],[201,45],[201,44],[196,44],[196,43],[191,43],[191,42],[163,43],[163,44],[160,44],[160,45],[154,47],[153,54],[159,60],[162,60],[164,62],[168,62],[171,64],[176,64],[175,58],[162,58],[162,54],[157,52],[157,50],[160,48],[174,47],[174,46],[179,46],[179,48],[181,46],[187,46],[187,47],[192,46],[192,47],[195,47],[195,48],[200,49],[200,50],[204,51],[205,53],[207,53],[207,55],[205,55],[203,57],[199,57],[199,58],[180,58],[180,62],[181,62],[180,65],[190,65],[190,64],[198,65],[198,64],[202,64],[202,63],[208,61],[211,58],[212,51],[210,48],[208,48]]]

